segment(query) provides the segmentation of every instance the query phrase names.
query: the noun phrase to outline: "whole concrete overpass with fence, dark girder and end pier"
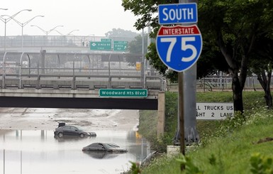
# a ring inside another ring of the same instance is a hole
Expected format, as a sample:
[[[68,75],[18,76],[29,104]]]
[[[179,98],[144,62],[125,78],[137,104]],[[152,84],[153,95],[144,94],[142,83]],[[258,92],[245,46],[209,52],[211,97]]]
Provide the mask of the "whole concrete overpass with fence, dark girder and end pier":
[[[142,55],[36,43],[0,48],[0,107],[157,110],[162,134],[166,80],[149,66],[128,65]],[[99,89],[147,89],[147,97],[100,97]]]

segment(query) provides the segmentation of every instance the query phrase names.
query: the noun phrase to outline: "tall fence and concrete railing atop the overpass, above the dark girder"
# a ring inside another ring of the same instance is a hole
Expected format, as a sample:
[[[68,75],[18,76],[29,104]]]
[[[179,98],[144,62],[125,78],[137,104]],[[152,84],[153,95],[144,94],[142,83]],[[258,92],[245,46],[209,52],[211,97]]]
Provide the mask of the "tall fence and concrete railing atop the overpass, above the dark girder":
[[[121,60],[121,56],[123,59]],[[164,91],[155,70],[128,66],[129,53],[0,52],[1,89],[151,89]],[[135,56],[135,55],[133,55]]]

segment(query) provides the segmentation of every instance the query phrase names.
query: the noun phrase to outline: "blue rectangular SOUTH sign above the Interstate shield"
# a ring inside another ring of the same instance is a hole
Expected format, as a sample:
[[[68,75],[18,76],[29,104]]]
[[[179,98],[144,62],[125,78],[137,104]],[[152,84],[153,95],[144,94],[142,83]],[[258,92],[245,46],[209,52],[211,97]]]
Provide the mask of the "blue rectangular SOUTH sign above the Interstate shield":
[[[160,25],[174,23],[197,23],[197,4],[162,4],[158,6]]]

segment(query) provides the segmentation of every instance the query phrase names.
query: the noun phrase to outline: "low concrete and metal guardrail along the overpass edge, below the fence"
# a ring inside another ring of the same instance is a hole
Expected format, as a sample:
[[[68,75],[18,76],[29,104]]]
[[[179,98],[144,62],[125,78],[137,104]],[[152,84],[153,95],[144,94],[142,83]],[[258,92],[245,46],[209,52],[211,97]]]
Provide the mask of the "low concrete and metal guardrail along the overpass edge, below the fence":
[[[0,74],[1,89],[150,89],[165,90],[165,80],[146,76],[145,87],[139,75],[67,75],[67,74]]]

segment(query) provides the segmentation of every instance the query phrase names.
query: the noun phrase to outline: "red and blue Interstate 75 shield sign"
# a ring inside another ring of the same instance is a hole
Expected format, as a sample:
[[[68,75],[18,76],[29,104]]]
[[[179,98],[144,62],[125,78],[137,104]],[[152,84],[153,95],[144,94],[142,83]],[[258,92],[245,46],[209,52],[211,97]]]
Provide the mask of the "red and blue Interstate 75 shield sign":
[[[193,26],[161,26],[156,39],[157,53],[164,64],[176,72],[189,69],[202,50],[199,28]]]

